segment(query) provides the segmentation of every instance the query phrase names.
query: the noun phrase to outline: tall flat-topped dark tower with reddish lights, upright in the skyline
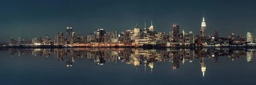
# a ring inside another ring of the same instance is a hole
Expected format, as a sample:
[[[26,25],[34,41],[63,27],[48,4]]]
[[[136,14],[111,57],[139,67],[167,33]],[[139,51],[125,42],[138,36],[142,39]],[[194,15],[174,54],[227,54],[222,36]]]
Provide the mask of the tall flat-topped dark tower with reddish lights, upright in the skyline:
[[[173,37],[174,42],[178,42],[179,37],[180,37],[180,26],[173,25],[172,31],[173,31],[172,37]]]

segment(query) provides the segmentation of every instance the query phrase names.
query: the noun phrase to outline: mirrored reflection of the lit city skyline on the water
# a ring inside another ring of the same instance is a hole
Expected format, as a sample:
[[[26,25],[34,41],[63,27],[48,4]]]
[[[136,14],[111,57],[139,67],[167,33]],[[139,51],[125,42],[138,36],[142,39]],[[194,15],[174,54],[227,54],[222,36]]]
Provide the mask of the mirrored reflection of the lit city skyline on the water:
[[[192,63],[194,59],[200,59],[201,71],[204,77],[206,72],[206,59],[212,59],[218,64],[218,57],[228,57],[229,61],[234,59],[242,59],[246,56],[247,62],[252,62],[255,50],[247,48],[0,48],[0,51],[9,52],[14,55],[18,53],[42,57],[46,59],[50,55],[55,55],[55,59],[59,62],[66,59],[66,66],[72,67],[76,59],[86,57],[96,63],[96,65],[104,65],[105,62],[125,62],[126,64],[134,64],[136,69],[140,65],[151,68],[151,74],[154,62],[172,63],[172,68],[180,68],[180,62],[185,64],[186,61]]]

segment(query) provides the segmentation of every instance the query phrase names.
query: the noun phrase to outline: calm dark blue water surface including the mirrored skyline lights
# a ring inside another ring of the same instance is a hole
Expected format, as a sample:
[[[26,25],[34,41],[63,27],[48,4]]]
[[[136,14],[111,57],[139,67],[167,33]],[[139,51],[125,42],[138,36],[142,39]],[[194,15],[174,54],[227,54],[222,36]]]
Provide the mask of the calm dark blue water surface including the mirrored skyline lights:
[[[247,48],[0,48],[0,85],[256,84]]]

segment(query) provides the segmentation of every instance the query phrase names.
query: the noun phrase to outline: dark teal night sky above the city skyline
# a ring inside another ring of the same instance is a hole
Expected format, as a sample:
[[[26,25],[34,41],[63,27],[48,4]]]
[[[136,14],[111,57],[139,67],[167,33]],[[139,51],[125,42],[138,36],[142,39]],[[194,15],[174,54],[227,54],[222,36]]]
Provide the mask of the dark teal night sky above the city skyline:
[[[133,29],[136,21],[141,29],[153,20],[154,30],[199,34],[205,13],[207,34],[218,29],[220,37],[228,32],[244,35],[256,32],[256,1],[253,0],[1,0],[0,42],[14,39],[54,38],[58,32],[72,27],[76,34]]]

